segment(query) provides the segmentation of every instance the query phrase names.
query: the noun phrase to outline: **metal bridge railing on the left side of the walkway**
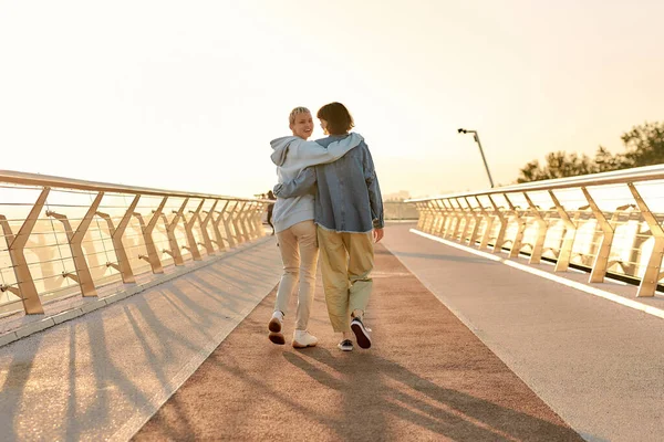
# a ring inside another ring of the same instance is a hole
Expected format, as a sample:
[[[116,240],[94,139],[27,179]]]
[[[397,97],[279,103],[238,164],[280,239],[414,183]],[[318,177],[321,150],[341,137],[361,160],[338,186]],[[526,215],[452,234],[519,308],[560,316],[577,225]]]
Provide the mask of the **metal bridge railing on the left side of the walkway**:
[[[258,239],[268,203],[0,170],[0,314]]]

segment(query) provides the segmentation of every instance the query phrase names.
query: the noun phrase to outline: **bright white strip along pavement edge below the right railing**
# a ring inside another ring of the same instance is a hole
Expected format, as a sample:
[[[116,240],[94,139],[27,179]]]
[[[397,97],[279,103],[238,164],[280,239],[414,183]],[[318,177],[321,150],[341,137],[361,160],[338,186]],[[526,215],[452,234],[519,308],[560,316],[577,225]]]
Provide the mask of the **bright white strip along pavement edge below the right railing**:
[[[506,260],[504,257],[496,256],[496,255],[492,255],[490,253],[483,252],[480,250],[475,250],[475,249],[465,246],[463,244],[457,244],[455,242],[447,241],[447,240],[444,240],[444,239],[438,238],[438,236],[434,236],[434,235],[428,234],[428,233],[424,233],[424,232],[422,232],[422,231],[419,231],[417,229],[411,229],[409,232],[411,233],[415,233],[415,234],[417,234],[419,236],[426,238],[428,240],[437,241],[437,242],[439,242],[442,244],[449,245],[452,248],[455,248],[455,249],[458,249],[458,250],[463,250],[465,252],[469,252],[469,253],[476,254],[478,256],[486,257],[486,259],[491,260],[491,261],[500,262],[500,263],[502,263],[505,265],[509,265],[510,267],[515,267],[515,269],[518,269],[520,271],[528,272],[528,273],[533,274],[536,276],[540,276],[540,277],[547,278],[549,281],[553,281],[556,283],[562,284],[562,285],[567,285],[568,287],[577,288],[577,290],[579,290],[581,292],[585,292],[585,293],[588,293],[590,295],[602,297],[604,299],[614,302],[616,304],[624,305],[625,307],[630,307],[630,308],[633,308],[633,309],[636,309],[636,311],[641,311],[641,312],[646,313],[649,315],[656,316],[656,317],[660,317],[660,318],[664,319],[664,311],[661,309],[661,308],[656,308],[656,307],[653,307],[653,306],[640,303],[640,302],[634,301],[634,299],[627,299],[627,298],[624,298],[624,297],[622,297],[620,295],[616,295],[614,293],[606,292],[606,291],[603,291],[603,290],[596,288],[596,287],[591,287],[589,285],[585,285],[585,284],[582,284],[582,283],[578,283],[575,281],[570,281],[570,280],[564,278],[562,276],[552,275],[552,274],[550,274],[548,272],[544,272],[544,271],[541,271],[539,269],[529,267],[529,266],[520,264],[518,262]]]

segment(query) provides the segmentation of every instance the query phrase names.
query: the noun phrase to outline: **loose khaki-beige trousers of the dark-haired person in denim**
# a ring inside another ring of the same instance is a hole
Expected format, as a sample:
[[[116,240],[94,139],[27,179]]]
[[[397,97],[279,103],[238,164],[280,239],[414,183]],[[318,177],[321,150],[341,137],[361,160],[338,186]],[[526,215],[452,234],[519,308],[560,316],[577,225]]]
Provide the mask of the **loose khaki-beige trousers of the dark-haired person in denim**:
[[[328,315],[336,333],[351,332],[351,313],[364,312],[373,287],[372,233],[334,232],[318,228]]]

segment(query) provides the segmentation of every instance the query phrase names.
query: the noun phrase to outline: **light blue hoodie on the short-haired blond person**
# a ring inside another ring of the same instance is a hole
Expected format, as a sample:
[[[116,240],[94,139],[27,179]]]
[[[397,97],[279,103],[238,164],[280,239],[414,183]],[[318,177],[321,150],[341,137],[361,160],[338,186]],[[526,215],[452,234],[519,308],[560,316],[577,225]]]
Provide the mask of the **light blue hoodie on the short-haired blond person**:
[[[272,162],[277,165],[278,182],[293,180],[302,169],[310,166],[324,165],[343,157],[349,150],[362,143],[359,134],[331,143],[326,148],[315,141],[307,141],[300,137],[281,137],[270,141]],[[294,198],[277,198],[272,212],[272,222],[277,233],[307,220],[313,220],[313,194]]]

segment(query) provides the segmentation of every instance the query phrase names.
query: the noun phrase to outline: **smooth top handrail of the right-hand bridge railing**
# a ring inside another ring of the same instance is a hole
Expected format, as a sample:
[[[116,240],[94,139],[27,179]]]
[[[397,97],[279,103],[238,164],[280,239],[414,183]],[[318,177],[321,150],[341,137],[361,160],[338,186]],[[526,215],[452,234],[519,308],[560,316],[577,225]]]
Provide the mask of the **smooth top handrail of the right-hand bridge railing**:
[[[610,172],[600,172],[592,175],[583,175],[579,177],[557,178],[542,181],[525,182],[521,185],[504,186],[492,189],[486,189],[475,192],[446,193],[434,197],[408,199],[406,202],[421,202],[437,200],[442,198],[464,198],[474,197],[476,194],[496,194],[496,193],[512,193],[522,191],[538,190],[556,190],[569,189],[581,186],[605,186],[605,185],[624,185],[636,181],[653,181],[664,179],[664,165],[637,167],[633,169],[613,170]]]

